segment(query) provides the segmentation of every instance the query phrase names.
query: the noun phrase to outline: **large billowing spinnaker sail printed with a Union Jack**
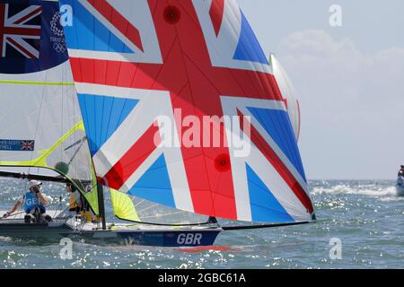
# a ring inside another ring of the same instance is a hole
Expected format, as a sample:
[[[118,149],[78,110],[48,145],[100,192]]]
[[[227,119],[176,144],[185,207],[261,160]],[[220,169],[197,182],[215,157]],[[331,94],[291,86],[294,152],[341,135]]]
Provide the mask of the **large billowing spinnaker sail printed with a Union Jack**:
[[[61,0],[105,186],[191,213],[311,222],[285,101],[235,0]]]

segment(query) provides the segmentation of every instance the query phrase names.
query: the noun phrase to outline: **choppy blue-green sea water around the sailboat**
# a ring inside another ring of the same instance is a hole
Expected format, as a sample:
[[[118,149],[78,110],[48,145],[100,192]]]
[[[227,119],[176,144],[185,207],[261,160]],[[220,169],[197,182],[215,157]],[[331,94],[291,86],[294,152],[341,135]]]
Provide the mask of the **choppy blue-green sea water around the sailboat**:
[[[60,256],[59,242],[0,238],[0,268],[404,268],[404,197],[395,195],[394,181],[312,180],[310,186],[316,223],[225,231],[212,248],[75,239],[71,258]],[[21,181],[1,179],[0,209],[22,190]],[[44,190],[53,204],[65,196],[56,184]]]

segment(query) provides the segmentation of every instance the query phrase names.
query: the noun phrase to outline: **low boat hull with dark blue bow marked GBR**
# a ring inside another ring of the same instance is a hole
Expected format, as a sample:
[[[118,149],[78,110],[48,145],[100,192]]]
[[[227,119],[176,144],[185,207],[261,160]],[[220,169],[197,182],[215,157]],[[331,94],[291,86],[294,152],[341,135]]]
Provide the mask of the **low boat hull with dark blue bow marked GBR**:
[[[73,218],[49,223],[25,223],[22,219],[0,223],[0,237],[50,240],[68,237],[159,247],[211,246],[221,231],[220,228],[179,228],[145,224],[108,224],[107,230],[101,230],[95,223],[75,224]]]

